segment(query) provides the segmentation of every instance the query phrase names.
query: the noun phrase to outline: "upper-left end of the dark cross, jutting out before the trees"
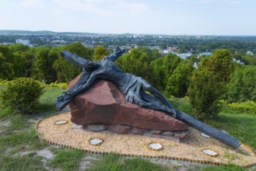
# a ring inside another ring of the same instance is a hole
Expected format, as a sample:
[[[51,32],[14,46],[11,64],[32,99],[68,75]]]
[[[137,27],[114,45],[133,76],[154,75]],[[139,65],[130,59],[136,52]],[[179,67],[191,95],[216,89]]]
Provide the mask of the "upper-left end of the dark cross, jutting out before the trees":
[[[72,54],[69,51],[61,51],[61,57],[67,61],[72,62],[74,65],[79,66],[80,68],[86,63],[86,59],[77,56],[76,54]]]

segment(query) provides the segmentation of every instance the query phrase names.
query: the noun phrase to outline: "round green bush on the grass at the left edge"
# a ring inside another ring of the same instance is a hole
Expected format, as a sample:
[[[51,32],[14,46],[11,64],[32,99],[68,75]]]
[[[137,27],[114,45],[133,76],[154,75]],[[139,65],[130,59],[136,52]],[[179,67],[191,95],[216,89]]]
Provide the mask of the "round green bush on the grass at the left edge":
[[[32,113],[37,110],[39,98],[44,86],[30,78],[13,79],[2,89],[0,99],[4,107],[9,107],[13,112]]]

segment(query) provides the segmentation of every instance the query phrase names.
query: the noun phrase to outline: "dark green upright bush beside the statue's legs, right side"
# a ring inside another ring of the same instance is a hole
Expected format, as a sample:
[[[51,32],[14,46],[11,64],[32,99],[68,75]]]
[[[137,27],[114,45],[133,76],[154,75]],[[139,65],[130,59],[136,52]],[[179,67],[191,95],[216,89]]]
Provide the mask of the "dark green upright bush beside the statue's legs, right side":
[[[223,95],[224,86],[212,72],[196,70],[191,77],[188,92],[195,117],[205,120],[219,113],[219,100]]]

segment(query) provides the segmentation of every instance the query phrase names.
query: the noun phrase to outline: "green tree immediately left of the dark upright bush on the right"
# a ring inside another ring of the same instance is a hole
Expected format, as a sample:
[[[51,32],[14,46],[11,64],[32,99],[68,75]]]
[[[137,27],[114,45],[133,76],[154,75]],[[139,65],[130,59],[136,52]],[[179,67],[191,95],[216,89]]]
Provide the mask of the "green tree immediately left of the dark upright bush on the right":
[[[188,86],[194,69],[190,62],[181,61],[168,79],[166,94],[184,97],[188,92]]]

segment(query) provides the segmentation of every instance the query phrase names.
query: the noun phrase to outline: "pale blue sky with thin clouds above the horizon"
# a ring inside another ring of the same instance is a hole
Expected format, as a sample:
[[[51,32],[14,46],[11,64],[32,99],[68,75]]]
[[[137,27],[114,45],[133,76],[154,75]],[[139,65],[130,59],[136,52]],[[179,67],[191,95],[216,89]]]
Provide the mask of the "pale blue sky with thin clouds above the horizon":
[[[255,0],[0,0],[0,30],[256,36]]]

